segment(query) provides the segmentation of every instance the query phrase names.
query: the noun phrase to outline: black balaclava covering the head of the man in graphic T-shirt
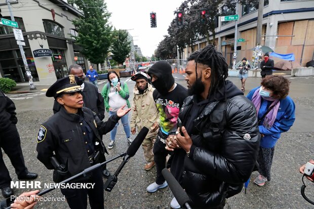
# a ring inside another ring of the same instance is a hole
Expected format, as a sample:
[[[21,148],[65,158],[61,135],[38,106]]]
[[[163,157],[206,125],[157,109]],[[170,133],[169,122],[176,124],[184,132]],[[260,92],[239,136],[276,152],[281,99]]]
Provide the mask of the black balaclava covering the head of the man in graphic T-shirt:
[[[160,93],[168,92],[171,89],[171,87],[174,85],[174,78],[172,76],[171,65],[169,64],[169,62],[165,60],[161,60],[153,64],[148,69],[147,74],[150,77],[152,77],[152,74],[158,77],[158,80],[156,80],[158,81],[158,83],[154,81],[152,82],[152,85]]]

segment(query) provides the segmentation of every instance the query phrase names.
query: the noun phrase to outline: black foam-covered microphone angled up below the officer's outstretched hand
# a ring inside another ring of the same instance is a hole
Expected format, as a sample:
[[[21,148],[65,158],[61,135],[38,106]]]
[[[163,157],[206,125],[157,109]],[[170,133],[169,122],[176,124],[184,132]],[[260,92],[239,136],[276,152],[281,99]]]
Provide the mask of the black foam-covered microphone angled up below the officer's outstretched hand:
[[[129,146],[129,148],[128,148],[127,152],[126,152],[127,154],[124,156],[123,161],[121,162],[119,168],[117,168],[115,173],[113,175],[111,175],[107,179],[107,181],[104,183],[104,190],[106,190],[108,192],[111,192],[111,190],[113,189],[114,185],[117,182],[117,176],[120,174],[120,172],[123,169],[124,165],[129,161],[129,159],[131,157],[133,157],[135,155],[137,150],[140,148],[140,146],[141,146],[142,142],[144,141],[148,131],[149,130],[146,127],[143,127],[141,129],[141,131],[138,133],[138,135],[135,137],[134,141]]]

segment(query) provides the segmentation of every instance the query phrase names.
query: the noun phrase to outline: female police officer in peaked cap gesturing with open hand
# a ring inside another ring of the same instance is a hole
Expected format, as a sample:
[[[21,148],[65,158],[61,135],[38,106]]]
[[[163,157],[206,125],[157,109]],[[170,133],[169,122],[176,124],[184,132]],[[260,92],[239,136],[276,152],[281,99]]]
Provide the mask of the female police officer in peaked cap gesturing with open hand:
[[[64,165],[63,171],[67,175],[63,179],[89,168],[95,163],[93,156],[96,152],[99,154],[100,151],[100,155],[104,155],[106,149],[100,136],[110,132],[119,119],[130,111],[121,107],[106,122],[99,120],[95,113],[83,107],[81,84],[76,76],[70,75],[57,80],[48,89],[46,96],[54,97],[62,107],[40,126],[37,134],[37,158],[47,169],[56,169],[51,163],[51,157],[54,156]],[[69,207],[87,208],[88,195],[91,208],[104,208],[101,169],[79,181],[95,185],[92,189],[61,189]]]

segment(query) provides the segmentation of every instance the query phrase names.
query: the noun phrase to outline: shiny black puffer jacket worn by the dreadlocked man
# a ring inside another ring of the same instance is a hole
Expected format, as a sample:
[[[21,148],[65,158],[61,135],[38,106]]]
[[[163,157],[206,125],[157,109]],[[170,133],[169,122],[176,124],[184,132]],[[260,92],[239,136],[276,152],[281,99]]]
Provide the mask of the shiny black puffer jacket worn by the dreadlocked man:
[[[255,107],[231,82],[226,81],[226,89],[226,106],[221,108],[219,102],[209,99],[193,121],[193,144],[189,157],[184,158],[182,186],[195,208],[211,208],[224,202],[230,184],[249,179],[258,155],[260,135]],[[193,102],[191,96],[185,99],[179,114],[182,121],[191,115]],[[212,131],[210,124],[220,123],[223,117],[221,135],[206,137],[204,134]]]

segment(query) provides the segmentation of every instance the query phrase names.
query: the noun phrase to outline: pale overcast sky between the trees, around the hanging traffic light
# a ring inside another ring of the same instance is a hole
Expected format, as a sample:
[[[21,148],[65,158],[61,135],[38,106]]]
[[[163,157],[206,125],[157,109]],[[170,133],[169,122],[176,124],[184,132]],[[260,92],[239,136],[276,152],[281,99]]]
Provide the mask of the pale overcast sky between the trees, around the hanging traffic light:
[[[129,30],[134,45],[141,48],[143,56],[151,57],[168,27],[175,18],[174,11],[183,0],[104,0],[111,13],[109,21],[116,29]],[[149,13],[156,13],[157,27],[150,28]],[[135,36],[135,37],[134,37]]]

